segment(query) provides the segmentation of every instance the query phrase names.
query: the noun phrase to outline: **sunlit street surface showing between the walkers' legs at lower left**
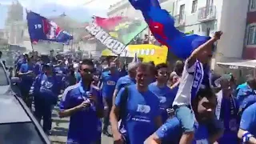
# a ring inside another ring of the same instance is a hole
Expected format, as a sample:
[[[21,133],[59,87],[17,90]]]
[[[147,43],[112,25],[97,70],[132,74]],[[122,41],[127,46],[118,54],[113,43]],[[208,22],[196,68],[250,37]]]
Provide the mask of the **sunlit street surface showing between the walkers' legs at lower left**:
[[[53,114],[53,124],[52,124],[52,135],[50,136],[51,142],[53,144],[65,144],[66,136],[69,126],[69,118],[58,118],[58,107],[55,106]],[[113,144],[112,138],[106,137],[102,134],[102,144]]]

